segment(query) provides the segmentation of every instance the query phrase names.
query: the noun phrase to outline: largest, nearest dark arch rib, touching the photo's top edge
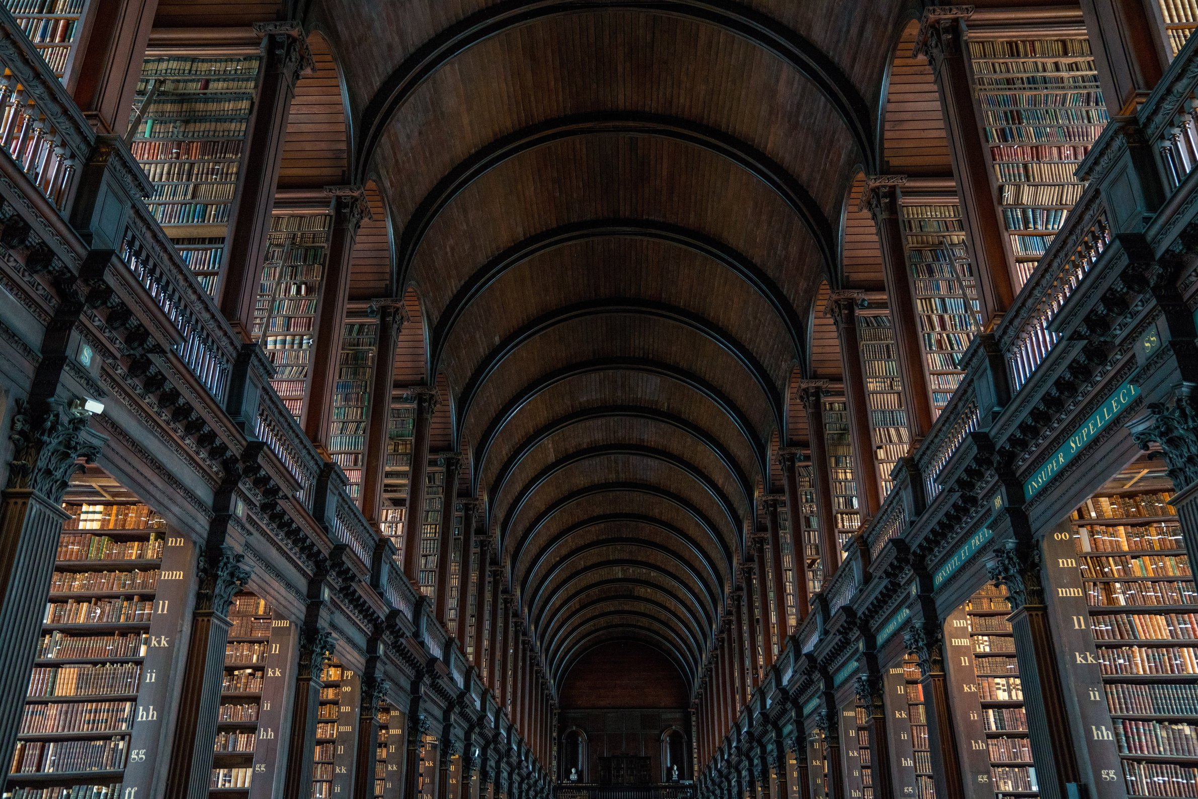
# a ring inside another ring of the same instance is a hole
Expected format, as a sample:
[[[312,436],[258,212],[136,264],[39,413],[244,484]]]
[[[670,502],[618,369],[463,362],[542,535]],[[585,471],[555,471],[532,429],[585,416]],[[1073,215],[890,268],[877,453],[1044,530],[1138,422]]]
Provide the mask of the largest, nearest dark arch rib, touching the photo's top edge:
[[[865,99],[823,50],[767,14],[731,0],[600,0],[585,6],[576,0],[508,0],[476,12],[434,36],[382,81],[362,114],[362,138],[355,158],[357,169],[370,163],[391,117],[429,77],[458,55],[479,42],[541,19],[603,11],[643,11],[692,19],[770,53],[811,80],[845,122],[863,161],[873,164],[875,137]]]

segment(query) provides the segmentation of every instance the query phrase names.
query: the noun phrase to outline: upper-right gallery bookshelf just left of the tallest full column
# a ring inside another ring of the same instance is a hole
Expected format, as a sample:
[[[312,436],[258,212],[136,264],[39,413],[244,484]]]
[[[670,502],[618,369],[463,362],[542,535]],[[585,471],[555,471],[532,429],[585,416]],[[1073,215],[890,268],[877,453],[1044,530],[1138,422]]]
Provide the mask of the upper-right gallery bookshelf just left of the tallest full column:
[[[978,331],[978,285],[966,256],[961,205],[903,198],[907,261],[915,289],[920,339],[939,414],[961,383],[961,356]]]

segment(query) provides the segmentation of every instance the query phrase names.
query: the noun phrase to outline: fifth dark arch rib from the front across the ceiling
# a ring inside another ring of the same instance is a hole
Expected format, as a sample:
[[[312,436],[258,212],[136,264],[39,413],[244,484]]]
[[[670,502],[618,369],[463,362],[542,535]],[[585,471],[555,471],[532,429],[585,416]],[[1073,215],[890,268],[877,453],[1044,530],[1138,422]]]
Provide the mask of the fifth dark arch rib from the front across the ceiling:
[[[483,429],[483,434],[478,436],[478,443],[474,446],[476,462],[482,466],[482,464],[486,460],[491,444],[495,443],[495,437],[498,435],[500,430],[502,430],[503,426],[515,417],[520,408],[525,407],[533,399],[558,383],[570,380],[571,377],[579,377],[581,375],[589,375],[599,371],[636,371],[655,375],[667,380],[673,380],[674,382],[698,392],[710,400],[712,404],[714,404],[721,413],[732,422],[737,432],[739,432],[749,443],[750,449],[752,449],[752,452],[757,455],[757,468],[760,471],[766,468],[766,464],[763,461],[763,453],[766,452],[764,443],[754,431],[752,424],[749,422],[749,417],[745,416],[745,412],[737,407],[736,402],[728,399],[724,392],[698,375],[679,367],[674,367],[673,364],[633,357],[593,358],[589,361],[581,361],[579,363],[570,364],[569,367],[556,369],[546,375],[541,375],[521,388],[510,400],[508,400],[508,402],[503,405],[502,408],[500,408],[495,417]]]

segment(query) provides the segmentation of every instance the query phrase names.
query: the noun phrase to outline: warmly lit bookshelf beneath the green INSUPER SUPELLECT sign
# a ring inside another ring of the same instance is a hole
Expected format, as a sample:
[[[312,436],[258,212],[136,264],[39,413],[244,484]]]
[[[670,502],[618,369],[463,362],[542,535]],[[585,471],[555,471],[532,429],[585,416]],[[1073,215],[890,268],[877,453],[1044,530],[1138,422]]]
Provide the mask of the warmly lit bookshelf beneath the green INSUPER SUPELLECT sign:
[[[1163,467],[1140,461],[1070,522],[1123,777],[1137,797],[1198,795],[1198,592],[1172,496]]]

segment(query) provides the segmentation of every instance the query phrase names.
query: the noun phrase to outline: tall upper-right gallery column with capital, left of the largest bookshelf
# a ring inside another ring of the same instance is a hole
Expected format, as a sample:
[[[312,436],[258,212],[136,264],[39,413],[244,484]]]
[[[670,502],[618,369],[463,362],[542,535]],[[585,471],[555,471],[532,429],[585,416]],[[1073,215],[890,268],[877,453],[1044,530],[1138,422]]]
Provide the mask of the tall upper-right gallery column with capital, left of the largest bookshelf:
[[[925,8],[914,54],[927,57],[936,77],[961,201],[966,253],[976,277],[981,327],[990,331],[1011,307],[1017,292],[998,189],[969,79],[964,20],[972,13],[973,6]]]

